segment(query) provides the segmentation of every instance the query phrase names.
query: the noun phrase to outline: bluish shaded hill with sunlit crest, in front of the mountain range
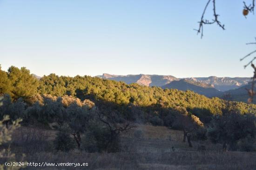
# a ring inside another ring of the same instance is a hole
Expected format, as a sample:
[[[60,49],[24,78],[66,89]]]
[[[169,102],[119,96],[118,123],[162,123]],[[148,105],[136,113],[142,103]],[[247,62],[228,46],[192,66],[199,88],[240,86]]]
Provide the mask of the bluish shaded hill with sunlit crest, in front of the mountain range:
[[[202,94],[207,97],[213,97],[222,94],[222,92],[215,88],[212,88],[212,86],[208,84],[202,82],[191,82],[186,79],[170,82],[167,85],[162,86],[162,88],[178,89],[182,91],[191,90],[195,93]]]

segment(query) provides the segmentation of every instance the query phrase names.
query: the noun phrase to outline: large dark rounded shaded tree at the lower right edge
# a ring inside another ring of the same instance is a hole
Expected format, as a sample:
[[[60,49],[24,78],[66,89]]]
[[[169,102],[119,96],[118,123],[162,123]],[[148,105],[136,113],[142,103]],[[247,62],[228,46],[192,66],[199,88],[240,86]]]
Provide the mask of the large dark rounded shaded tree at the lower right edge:
[[[223,151],[236,150],[236,144],[240,139],[247,137],[255,140],[256,116],[254,114],[241,114],[230,111],[222,115],[214,116],[211,126],[208,128],[208,137],[213,143],[222,143]]]

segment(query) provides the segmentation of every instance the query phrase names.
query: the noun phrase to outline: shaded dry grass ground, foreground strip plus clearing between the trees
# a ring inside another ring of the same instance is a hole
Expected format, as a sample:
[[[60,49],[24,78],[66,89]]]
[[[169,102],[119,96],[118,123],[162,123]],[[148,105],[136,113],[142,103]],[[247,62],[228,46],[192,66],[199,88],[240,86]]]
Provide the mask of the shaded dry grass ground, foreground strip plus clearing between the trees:
[[[143,132],[143,138],[136,139],[136,129]],[[27,129],[29,131],[29,129]],[[44,142],[51,142],[55,132],[49,133]],[[19,137],[15,133],[15,137]],[[169,139],[171,136],[171,140]],[[14,137],[14,139],[15,139]],[[27,161],[51,163],[88,163],[81,170],[256,170],[256,152],[222,152],[221,145],[208,142],[193,142],[193,148],[182,142],[182,132],[166,127],[137,125],[121,137],[122,151],[119,153],[86,153],[37,151],[27,153]],[[197,151],[197,145],[206,145],[206,151]],[[174,146],[175,151],[171,149]],[[13,151],[20,149],[12,145]],[[35,167],[27,167],[35,170]],[[44,170],[74,170],[74,167],[40,167]]]

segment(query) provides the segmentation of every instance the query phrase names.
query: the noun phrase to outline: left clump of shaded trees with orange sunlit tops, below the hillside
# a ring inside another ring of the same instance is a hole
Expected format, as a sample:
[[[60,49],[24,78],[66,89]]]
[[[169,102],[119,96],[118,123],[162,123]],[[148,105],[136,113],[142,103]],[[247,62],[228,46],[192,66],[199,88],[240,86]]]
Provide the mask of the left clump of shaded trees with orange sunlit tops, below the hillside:
[[[89,110],[94,107],[94,102],[81,101],[72,96],[37,95],[37,98],[39,101],[26,108],[23,117],[25,123],[38,121],[47,125],[54,122],[58,124],[69,122],[74,128],[78,128],[75,126],[79,126],[81,121],[85,124]]]

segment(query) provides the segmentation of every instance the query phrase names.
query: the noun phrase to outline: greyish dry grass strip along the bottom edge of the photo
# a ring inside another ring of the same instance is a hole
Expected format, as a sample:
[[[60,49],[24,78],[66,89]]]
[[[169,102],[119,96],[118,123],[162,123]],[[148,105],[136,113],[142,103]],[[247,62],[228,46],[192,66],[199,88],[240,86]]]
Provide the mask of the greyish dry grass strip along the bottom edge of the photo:
[[[241,152],[41,152],[27,158],[34,162],[86,162],[88,170],[255,170],[256,167],[256,154]]]

